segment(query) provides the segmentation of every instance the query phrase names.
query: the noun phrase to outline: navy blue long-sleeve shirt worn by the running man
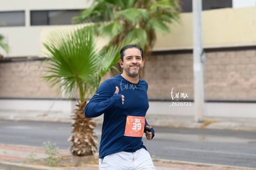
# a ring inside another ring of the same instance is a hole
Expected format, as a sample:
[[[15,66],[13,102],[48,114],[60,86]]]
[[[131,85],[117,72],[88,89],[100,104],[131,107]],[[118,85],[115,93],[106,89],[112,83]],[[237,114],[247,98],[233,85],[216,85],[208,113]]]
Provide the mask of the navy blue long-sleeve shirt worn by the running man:
[[[116,87],[119,87],[118,94],[114,94]],[[97,117],[104,113],[99,158],[119,151],[134,152],[145,148],[142,137],[125,136],[124,130],[127,116],[146,116],[149,107],[147,90],[145,80],[140,79],[139,83],[134,84],[120,74],[101,83],[85,106],[86,117]],[[124,104],[121,95],[124,95]],[[153,129],[150,132],[155,134]]]

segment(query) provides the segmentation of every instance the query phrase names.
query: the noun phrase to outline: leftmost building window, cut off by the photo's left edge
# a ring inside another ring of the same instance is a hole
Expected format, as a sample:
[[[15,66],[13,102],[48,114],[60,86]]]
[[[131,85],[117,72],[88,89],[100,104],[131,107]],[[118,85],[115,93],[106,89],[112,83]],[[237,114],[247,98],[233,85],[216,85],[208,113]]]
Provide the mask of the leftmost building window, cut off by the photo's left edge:
[[[0,12],[0,27],[25,26],[25,11]]]

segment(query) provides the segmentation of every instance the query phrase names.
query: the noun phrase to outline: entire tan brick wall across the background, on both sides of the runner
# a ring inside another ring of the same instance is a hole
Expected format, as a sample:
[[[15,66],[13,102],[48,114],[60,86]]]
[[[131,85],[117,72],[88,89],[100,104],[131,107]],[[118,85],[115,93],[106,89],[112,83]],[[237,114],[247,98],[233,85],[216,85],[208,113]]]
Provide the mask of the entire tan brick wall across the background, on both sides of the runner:
[[[256,48],[206,51],[205,97],[213,100],[256,100]],[[41,79],[42,61],[0,61],[0,97],[56,98]],[[150,99],[171,100],[171,90],[193,99],[192,52],[147,57],[144,78]]]

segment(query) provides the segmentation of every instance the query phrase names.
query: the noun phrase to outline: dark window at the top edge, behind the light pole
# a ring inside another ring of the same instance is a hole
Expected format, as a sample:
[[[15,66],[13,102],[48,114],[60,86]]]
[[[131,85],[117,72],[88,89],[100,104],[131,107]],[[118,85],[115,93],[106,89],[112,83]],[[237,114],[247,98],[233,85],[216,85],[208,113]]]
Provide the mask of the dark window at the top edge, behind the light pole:
[[[193,0],[180,0],[181,12],[192,12]],[[202,10],[232,7],[232,0],[202,0]]]

